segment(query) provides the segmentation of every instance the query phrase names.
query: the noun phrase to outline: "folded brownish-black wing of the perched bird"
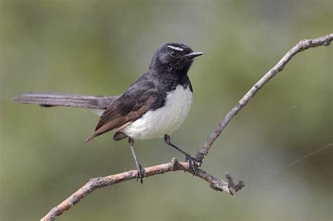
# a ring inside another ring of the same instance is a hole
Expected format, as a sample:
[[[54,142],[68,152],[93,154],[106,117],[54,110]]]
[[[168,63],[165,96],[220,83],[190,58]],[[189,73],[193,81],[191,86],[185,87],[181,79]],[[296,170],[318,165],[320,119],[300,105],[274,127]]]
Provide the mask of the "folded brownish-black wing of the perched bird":
[[[100,116],[95,131],[86,139],[89,142],[107,131],[127,126],[148,112],[155,100],[155,87],[143,82],[144,85],[130,86],[115,102]]]

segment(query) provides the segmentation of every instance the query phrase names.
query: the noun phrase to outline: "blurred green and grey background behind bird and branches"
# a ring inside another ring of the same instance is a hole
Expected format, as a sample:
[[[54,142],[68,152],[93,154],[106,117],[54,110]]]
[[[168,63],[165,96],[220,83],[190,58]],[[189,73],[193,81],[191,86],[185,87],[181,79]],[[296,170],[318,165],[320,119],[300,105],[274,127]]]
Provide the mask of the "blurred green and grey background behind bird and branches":
[[[162,43],[204,51],[192,110],[172,136],[195,154],[228,110],[300,39],[332,32],[332,1],[1,1],[1,220],[39,220],[89,178],[134,168],[98,116],[11,100],[29,91],[122,93]],[[58,220],[332,220],[332,48],[305,51],[238,114],[203,169],[245,187],[214,192],[186,173],[98,189]],[[176,156],[136,142],[143,166]]]

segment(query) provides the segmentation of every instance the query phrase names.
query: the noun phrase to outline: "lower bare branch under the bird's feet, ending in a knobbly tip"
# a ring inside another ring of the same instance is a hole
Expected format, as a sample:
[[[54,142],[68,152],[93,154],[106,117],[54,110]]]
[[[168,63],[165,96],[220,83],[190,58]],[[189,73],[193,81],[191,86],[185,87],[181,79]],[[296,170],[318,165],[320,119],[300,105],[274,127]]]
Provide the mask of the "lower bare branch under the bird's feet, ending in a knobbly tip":
[[[183,170],[185,172],[192,174],[192,172],[188,170],[188,163],[178,162],[176,158],[173,158],[170,163],[164,163],[157,166],[145,168],[145,173],[147,176],[152,176],[178,170]],[[46,216],[41,218],[41,221],[55,220],[56,217],[63,214],[66,210],[74,206],[81,199],[84,199],[84,197],[86,197],[86,195],[88,195],[89,193],[93,192],[93,190],[115,185],[118,182],[124,182],[127,180],[136,179],[137,174],[138,170],[129,170],[127,172],[119,173],[116,175],[108,175],[106,177],[92,178],[91,180],[89,180],[89,182],[86,183],[86,185],[77,190],[77,192],[74,192],[72,196],[65,199],[58,206],[55,206],[55,208],[52,208],[52,210],[48,212]],[[235,196],[235,193],[237,191],[239,191],[240,189],[242,189],[242,187],[244,187],[242,181],[240,181],[237,185],[235,185],[229,173],[226,174],[228,182],[224,182],[223,180],[214,178],[212,175],[206,173],[206,171],[200,169],[197,169],[195,176],[209,182],[210,183],[209,187],[211,187],[212,189],[216,191],[228,192],[233,196]]]

